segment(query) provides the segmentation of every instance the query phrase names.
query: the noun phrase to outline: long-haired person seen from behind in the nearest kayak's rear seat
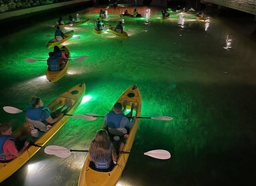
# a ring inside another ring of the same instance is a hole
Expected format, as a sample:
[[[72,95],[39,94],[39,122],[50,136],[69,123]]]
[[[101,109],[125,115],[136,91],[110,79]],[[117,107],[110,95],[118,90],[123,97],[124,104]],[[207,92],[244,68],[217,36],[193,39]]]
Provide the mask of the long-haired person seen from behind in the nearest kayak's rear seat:
[[[117,155],[106,130],[98,130],[90,143],[89,160],[89,167],[96,171],[107,172],[114,168]]]

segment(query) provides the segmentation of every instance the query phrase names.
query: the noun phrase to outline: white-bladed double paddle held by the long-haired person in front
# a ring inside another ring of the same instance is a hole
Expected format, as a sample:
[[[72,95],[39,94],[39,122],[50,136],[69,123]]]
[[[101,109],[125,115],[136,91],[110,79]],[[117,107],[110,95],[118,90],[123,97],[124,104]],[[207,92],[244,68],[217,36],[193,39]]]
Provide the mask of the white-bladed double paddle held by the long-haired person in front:
[[[80,152],[88,152],[88,150],[75,150],[75,149],[67,149],[65,147],[61,147],[58,145],[49,145],[45,148],[45,153],[49,155],[56,155],[61,158],[66,158],[71,155],[72,151],[80,151]],[[163,149],[156,149],[152,151],[146,151],[146,152],[128,152],[128,151],[120,151],[119,153],[141,153],[144,155],[148,155],[150,157],[154,157],[156,159],[170,159],[171,154],[169,151],[163,150]]]

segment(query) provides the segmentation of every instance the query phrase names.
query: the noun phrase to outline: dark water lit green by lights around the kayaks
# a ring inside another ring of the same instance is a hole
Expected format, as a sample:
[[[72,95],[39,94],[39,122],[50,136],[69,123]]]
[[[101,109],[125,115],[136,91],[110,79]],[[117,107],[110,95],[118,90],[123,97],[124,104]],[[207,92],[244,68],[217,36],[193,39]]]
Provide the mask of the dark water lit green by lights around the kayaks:
[[[116,25],[125,9],[108,9],[106,25]],[[129,39],[96,35],[100,7],[77,11],[90,22],[72,28],[80,39],[64,45],[71,56],[68,74],[51,84],[45,78],[47,42],[57,18],[41,21],[1,38],[1,107],[25,108],[32,95],[45,104],[72,86],[86,83],[91,99],[75,114],[103,116],[132,84],[142,94],[142,116],[172,116],[172,122],[140,120],[134,151],[166,149],[168,160],[130,155],[118,185],[255,185],[256,54],[253,16],[217,13],[205,7],[209,22],[192,14],[160,19],[159,7],[138,7],[147,17],[124,19]],[[75,13],[77,13],[75,12]],[[74,14],[75,14],[74,13]],[[232,16],[231,16],[232,15]],[[68,17],[63,15],[63,17]],[[69,31],[69,29],[63,29]],[[0,110],[1,122],[22,124],[24,114]],[[70,118],[47,145],[88,149],[102,119]],[[77,185],[85,153],[67,159],[43,150],[1,185]]]

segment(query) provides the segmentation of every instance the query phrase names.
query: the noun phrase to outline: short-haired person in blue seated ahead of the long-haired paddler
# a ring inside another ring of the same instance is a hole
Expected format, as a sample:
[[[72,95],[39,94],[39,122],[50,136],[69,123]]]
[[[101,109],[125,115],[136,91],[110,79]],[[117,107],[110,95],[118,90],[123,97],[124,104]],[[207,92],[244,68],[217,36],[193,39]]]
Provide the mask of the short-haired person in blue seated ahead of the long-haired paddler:
[[[136,121],[136,116],[132,117],[132,122],[130,122],[129,118],[132,116],[134,104],[132,104],[130,112],[126,115],[124,115],[125,110],[126,102],[124,102],[124,109],[122,109],[122,104],[120,102],[116,102],[113,110],[110,110],[110,112],[104,116],[104,128],[132,128]],[[128,138],[128,134],[125,134],[123,137]],[[120,143],[119,151],[122,151],[124,148],[124,138],[121,139],[122,141]]]

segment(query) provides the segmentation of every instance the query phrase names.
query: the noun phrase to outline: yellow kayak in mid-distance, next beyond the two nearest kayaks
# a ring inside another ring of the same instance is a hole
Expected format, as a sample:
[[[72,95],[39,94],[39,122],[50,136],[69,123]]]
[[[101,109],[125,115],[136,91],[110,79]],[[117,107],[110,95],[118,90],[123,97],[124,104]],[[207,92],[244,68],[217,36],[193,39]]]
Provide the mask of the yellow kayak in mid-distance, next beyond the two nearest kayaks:
[[[49,82],[57,82],[57,80],[61,79],[64,76],[64,74],[66,74],[66,71],[68,71],[68,67],[70,64],[70,52],[68,48],[66,48],[66,46],[62,46],[61,51],[64,52],[67,58],[66,60],[64,60],[66,64],[62,70],[58,70],[58,71],[51,71],[49,70],[49,68],[47,68],[46,76]]]

